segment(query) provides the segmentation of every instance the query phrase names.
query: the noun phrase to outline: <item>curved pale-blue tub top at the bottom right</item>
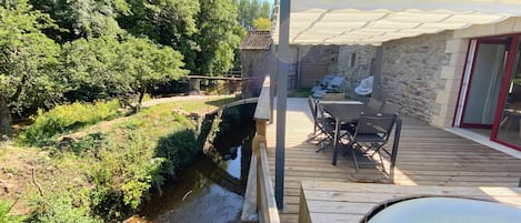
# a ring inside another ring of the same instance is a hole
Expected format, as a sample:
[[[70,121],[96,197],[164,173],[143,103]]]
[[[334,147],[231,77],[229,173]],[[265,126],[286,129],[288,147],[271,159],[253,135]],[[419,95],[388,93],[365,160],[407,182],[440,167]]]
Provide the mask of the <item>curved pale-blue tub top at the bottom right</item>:
[[[369,223],[519,223],[521,209],[455,197],[422,197],[398,202]]]

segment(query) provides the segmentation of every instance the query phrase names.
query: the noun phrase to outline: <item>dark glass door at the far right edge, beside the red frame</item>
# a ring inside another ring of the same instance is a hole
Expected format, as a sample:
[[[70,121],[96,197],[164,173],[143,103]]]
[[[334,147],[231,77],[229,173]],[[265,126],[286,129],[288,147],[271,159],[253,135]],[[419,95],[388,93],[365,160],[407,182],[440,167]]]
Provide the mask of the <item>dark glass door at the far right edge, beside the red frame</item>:
[[[519,36],[514,37],[515,54],[508,62],[508,79],[501,88],[498,123],[492,140],[521,150],[521,48]]]

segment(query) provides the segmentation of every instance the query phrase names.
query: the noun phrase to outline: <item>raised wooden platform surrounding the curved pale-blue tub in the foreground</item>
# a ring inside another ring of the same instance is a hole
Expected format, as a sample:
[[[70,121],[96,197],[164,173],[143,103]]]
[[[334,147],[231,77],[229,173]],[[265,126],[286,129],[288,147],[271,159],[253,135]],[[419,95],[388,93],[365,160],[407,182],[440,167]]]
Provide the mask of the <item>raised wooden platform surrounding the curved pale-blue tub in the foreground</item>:
[[[521,213],[521,187],[389,185],[302,181],[299,222],[365,222],[370,217],[368,214],[374,213],[373,211],[378,207],[410,199],[435,196],[465,197],[502,203],[518,207],[518,216]],[[434,210],[431,211],[434,212]],[[411,222],[411,220],[404,222]],[[513,222],[513,220],[509,222]]]

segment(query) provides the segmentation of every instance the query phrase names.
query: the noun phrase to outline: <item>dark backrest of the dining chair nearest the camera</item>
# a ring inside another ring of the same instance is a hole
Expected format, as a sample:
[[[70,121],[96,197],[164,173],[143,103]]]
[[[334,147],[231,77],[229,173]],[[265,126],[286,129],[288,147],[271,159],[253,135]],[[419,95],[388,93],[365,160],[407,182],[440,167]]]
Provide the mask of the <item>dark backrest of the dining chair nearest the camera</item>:
[[[378,134],[382,141],[388,141],[395,121],[395,114],[362,114],[354,138],[358,134]]]

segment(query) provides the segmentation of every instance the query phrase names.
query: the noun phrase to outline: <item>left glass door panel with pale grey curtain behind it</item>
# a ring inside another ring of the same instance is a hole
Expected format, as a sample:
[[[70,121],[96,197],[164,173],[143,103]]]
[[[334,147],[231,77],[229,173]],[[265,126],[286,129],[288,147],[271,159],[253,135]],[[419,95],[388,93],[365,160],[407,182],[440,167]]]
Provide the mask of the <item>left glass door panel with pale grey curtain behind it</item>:
[[[460,126],[492,129],[510,39],[478,40]]]

